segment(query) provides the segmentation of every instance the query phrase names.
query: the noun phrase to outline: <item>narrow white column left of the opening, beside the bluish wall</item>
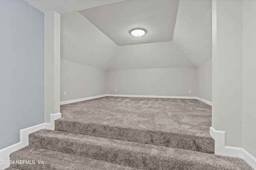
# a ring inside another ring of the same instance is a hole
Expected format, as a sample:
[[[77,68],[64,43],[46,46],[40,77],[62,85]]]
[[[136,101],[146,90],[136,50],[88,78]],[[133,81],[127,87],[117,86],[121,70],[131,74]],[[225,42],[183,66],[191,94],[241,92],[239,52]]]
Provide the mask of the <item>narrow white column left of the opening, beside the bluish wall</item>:
[[[44,16],[44,122],[60,113],[60,14]]]

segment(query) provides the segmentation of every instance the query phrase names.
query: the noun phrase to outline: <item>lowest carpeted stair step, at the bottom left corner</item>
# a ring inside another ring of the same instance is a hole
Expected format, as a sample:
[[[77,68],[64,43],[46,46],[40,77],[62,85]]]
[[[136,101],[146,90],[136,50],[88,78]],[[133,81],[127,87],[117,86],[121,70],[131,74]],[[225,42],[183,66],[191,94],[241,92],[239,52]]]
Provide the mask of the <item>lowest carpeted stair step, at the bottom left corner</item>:
[[[118,164],[31,146],[11,153],[10,160],[30,160],[31,164],[12,164],[7,170],[16,170],[16,168],[20,170],[136,170]],[[44,164],[38,164],[38,160],[44,161]]]

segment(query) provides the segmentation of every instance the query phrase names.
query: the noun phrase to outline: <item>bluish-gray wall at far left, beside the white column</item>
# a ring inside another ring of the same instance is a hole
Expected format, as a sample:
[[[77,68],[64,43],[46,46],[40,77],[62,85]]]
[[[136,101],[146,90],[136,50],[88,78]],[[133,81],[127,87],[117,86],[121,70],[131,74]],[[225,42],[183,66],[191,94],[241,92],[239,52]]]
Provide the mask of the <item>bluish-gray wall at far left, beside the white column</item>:
[[[0,0],[0,149],[44,122],[44,13]]]

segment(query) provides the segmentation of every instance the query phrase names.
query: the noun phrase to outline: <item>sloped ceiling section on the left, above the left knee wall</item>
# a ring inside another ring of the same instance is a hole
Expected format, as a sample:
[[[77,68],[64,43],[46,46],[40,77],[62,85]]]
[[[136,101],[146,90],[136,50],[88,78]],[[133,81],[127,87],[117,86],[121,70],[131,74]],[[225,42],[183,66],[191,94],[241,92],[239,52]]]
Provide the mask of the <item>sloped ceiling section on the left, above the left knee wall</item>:
[[[108,70],[117,45],[79,12],[61,15],[60,58]]]

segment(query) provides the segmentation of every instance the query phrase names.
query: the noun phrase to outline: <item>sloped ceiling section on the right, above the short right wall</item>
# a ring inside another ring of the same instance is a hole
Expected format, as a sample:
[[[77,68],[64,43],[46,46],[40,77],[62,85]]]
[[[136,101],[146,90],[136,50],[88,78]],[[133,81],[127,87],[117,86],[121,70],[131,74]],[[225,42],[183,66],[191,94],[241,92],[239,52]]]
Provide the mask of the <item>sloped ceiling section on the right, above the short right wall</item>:
[[[195,66],[212,59],[211,0],[180,0],[173,41]]]

